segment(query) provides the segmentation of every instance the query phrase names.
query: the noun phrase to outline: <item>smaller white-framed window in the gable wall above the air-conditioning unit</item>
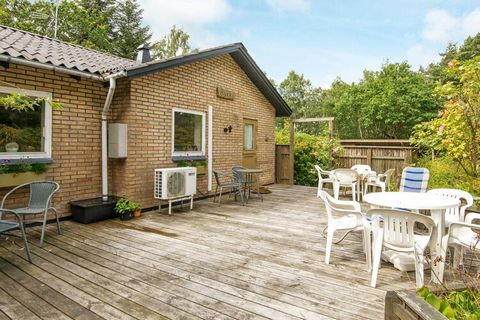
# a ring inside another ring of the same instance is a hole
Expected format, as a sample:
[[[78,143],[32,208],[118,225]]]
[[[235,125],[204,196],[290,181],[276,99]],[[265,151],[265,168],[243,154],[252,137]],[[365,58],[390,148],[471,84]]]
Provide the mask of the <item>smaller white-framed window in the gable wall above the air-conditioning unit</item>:
[[[205,113],[173,109],[172,155],[205,155]]]

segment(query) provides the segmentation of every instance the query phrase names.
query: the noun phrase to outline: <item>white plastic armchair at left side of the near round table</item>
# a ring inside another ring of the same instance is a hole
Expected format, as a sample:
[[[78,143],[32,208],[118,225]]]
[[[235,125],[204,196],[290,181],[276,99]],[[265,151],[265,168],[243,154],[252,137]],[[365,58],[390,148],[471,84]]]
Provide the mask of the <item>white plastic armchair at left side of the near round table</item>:
[[[325,248],[325,263],[330,263],[333,235],[336,231],[344,231],[344,235],[335,242],[339,243],[352,231],[363,231],[363,250],[367,268],[371,270],[371,237],[370,222],[361,211],[360,203],[355,201],[341,201],[332,198],[327,192],[320,191],[319,198],[325,203],[327,212],[327,244]],[[325,231],[325,229],[324,229]]]

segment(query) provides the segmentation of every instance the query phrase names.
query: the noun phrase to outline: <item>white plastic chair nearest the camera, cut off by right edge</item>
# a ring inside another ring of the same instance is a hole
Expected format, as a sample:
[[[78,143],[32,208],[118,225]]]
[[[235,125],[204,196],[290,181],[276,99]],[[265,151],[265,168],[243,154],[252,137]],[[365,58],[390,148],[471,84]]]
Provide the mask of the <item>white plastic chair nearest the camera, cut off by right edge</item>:
[[[463,263],[463,251],[465,248],[476,251],[480,249],[479,233],[480,225],[474,224],[473,220],[480,220],[480,214],[471,212],[465,217],[465,222],[452,222],[448,233],[442,239],[442,261],[446,261],[448,247],[454,248],[453,267],[458,268]],[[439,269],[438,278],[443,280],[443,268]]]

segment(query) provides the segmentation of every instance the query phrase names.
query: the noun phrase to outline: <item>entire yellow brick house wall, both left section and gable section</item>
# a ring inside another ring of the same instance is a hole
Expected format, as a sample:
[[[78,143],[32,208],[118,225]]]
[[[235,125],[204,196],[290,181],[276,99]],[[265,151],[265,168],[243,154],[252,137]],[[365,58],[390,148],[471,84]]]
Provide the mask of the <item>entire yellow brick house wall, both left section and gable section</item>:
[[[60,184],[54,206],[68,215],[68,202],[101,194],[100,115],[107,88],[100,81],[10,64],[0,67],[3,82],[22,89],[51,92],[65,107],[53,111],[52,158],[48,179]],[[218,98],[221,86],[235,92],[233,101]],[[120,79],[110,121],[128,124],[128,158],[109,160],[110,194],[125,195],[144,207],[153,199],[153,170],[174,167],[171,160],[172,108],[207,113],[213,107],[213,167],[230,172],[242,163],[243,119],[258,120],[257,163],[261,183],[274,182],[275,110],[229,55],[179,66],[132,81]],[[206,121],[208,116],[206,116]],[[231,133],[224,127],[231,125]],[[207,191],[206,176],[198,188]],[[0,189],[0,196],[8,188]],[[17,197],[15,204],[26,199]]]

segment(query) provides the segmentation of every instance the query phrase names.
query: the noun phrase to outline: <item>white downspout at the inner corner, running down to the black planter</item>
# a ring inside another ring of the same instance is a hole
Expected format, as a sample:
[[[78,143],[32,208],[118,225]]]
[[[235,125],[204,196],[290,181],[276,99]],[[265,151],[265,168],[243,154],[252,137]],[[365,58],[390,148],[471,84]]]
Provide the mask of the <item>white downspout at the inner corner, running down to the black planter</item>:
[[[110,87],[102,110],[102,201],[108,200],[107,115],[117,87],[117,79],[123,76],[125,76],[125,72],[122,71],[107,77],[110,81]]]

